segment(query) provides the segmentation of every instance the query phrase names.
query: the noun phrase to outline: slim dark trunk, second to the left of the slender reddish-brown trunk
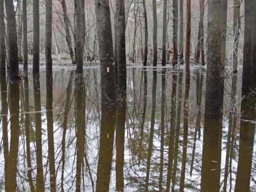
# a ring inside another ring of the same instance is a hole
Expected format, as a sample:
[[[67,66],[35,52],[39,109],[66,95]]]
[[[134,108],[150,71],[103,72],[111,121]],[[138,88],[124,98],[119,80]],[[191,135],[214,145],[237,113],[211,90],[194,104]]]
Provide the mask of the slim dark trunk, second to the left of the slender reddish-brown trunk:
[[[177,65],[178,60],[178,15],[179,15],[179,7],[178,0],[173,1],[173,67]],[[189,35],[190,36],[190,35]],[[190,38],[189,38],[190,40]]]

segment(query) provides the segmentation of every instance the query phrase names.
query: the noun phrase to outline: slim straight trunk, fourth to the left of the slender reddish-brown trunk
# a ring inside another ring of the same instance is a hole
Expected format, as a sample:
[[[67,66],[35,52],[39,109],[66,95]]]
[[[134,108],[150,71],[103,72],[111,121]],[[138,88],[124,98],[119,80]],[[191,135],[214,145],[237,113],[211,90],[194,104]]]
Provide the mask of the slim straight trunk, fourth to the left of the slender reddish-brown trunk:
[[[153,0],[153,66],[157,66],[157,2]]]

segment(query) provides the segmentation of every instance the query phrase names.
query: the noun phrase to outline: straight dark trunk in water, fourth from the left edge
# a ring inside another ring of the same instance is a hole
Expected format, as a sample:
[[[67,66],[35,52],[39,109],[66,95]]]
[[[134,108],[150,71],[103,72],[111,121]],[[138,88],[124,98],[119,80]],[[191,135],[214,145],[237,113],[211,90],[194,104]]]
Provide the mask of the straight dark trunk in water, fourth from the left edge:
[[[33,75],[39,73],[40,29],[39,0],[33,1]]]

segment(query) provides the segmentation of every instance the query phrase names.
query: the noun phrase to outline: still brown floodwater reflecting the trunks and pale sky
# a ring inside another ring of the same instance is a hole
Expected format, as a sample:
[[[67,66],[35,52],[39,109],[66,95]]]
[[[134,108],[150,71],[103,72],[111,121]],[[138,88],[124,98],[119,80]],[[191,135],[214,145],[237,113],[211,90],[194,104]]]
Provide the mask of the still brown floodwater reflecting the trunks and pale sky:
[[[188,84],[129,67],[116,109],[101,108],[99,67],[2,80],[0,191],[256,191],[255,121],[241,118],[231,71],[219,118],[204,117],[204,71]]]

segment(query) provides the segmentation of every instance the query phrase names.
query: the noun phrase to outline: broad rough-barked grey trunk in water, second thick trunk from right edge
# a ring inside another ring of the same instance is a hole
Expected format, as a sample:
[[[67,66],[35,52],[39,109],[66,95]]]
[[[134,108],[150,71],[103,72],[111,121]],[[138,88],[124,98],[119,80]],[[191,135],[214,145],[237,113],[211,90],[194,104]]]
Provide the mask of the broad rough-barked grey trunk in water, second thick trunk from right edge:
[[[222,114],[224,73],[221,64],[221,2],[220,0],[208,1],[206,115]]]

